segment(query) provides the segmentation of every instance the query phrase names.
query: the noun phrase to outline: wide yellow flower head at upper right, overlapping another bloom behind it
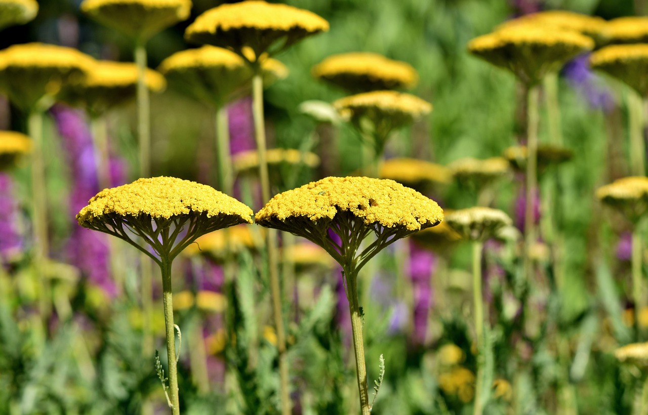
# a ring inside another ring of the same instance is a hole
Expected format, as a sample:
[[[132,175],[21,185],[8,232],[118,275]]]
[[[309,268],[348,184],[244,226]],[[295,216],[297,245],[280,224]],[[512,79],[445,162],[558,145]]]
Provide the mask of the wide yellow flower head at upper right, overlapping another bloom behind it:
[[[594,41],[578,32],[535,25],[502,28],[468,44],[472,54],[509,69],[527,85],[537,84],[546,74],[593,48]]]

